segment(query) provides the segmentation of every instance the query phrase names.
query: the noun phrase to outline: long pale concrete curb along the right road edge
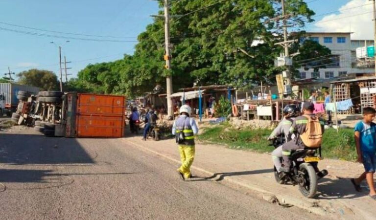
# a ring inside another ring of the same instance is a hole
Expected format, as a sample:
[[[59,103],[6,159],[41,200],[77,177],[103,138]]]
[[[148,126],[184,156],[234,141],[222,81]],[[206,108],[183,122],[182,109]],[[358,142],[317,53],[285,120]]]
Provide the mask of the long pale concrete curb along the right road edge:
[[[166,158],[170,161],[173,161],[175,163],[180,164],[180,160],[177,160],[177,159],[172,158],[170,156],[158,153],[158,152],[153,151],[149,148],[146,148],[146,147],[144,147],[140,144],[137,144],[137,143],[134,143],[134,142],[127,142],[127,144],[131,144],[131,145],[137,147],[138,149],[141,148],[143,151],[147,151],[147,152],[150,152],[150,153],[153,153],[153,154],[157,154],[157,155],[164,157],[164,158]],[[213,172],[199,168],[199,167],[196,167],[196,166],[192,166],[191,168],[193,170],[196,170],[196,171],[201,172],[201,173],[208,174],[210,176],[214,175]],[[259,186],[256,186],[256,185],[253,185],[253,184],[250,184],[250,183],[244,183],[242,181],[236,180],[235,178],[233,178],[231,176],[225,176],[223,179],[225,181],[229,182],[229,183],[236,184],[236,185],[239,185],[241,187],[250,189],[252,191],[256,191],[258,193],[261,193],[261,195],[260,195],[261,198],[263,198],[265,200],[270,200],[270,198],[277,198],[277,202],[280,205],[293,205],[293,206],[296,206],[298,208],[305,209],[305,210],[307,210],[311,213],[321,215],[321,216],[329,214],[324,208],[318,206],[317,202],[315,202],[315,201],[312,201],[312,202],[304,201],[304,200],[299,199],[299,198],[293,198],[293,197],[289,197],[289,196],[282,195],[282,194],[275,194],[275,193],[272,193],[270,191],[264,190]]]

